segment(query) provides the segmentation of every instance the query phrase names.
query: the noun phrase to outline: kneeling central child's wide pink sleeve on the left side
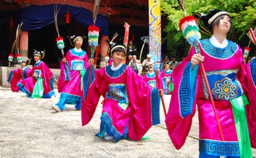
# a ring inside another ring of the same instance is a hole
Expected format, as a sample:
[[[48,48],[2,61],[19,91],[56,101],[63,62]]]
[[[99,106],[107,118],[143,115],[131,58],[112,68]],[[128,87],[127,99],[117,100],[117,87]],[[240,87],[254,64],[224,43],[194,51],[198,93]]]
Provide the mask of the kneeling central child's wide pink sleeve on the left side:
[[[84,94],[82,97],[82,126],[85,126],[92,120],[94,112],[97,108],[100,95],[104,95],[104,71],[102,68],[98,71],[94,71],[94,68],[88,67],[84,75]],[[90,73],[91,72],[91,73]],[[89,84],[90,80],[90,84]]]

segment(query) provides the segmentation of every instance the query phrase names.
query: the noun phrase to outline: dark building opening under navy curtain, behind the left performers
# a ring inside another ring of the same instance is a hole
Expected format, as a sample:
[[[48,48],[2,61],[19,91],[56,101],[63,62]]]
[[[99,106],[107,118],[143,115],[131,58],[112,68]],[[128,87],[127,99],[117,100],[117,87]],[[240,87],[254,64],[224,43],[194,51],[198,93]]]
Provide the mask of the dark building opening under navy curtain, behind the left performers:
[[[65,48],[65,54],[67,51],[73,46],[71,46],[69,39],[67,36],[79,35],[79,36],[86,36],[84,39],[84,44],[82,49],[87,52],[88,48],[88,31],[85,26],[79,24],[74,19],[70,20],[69,24],[65,23],[64,17],[58,20],[59,26],[59,35],[63,36]],[[42,61],[46,63],[49,68],[59,68],[59,62],[61,61],[62,54],[61,50],[57,47],[56,38],[57,38],[57,31],[55,29],[55,24],[51,24],[49,26],[45,26],[38,30],[30,30],[28,33],[28,58],[33,58],[34,50],[42,51],[45,50],[45,55]],[[34,61],[31,63],[34,64]]]

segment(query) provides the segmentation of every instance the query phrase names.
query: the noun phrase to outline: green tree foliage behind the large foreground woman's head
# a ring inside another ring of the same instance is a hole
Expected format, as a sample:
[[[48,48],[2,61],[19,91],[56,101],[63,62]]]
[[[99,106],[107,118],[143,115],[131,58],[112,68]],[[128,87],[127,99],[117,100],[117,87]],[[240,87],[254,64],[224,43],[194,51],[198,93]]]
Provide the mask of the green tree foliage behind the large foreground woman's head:
[[[210,9],[220,9],[228,11],[232,17],[232,32],[230,40],[236,42],[241,48],[249,43],[247,32],[249,28],[256,27],[256,1],[255,0],[184,0],[185,11],[187,15],[192,15],[193,11],[207,14]],[[189,50],[189,44],[183,38],[179,30],[179,20],[184,17],[184,13],[177,0],[162,0],[162,14],[167,16],[168,25],[164,28],[167,36],[164,40],[167,42],[168,51],[172,54],[177,53],[177,48],[183,46],[184,54]],[[202,38],[210,36],[201,34]],[[182,54],[177,54],[181,56]]]

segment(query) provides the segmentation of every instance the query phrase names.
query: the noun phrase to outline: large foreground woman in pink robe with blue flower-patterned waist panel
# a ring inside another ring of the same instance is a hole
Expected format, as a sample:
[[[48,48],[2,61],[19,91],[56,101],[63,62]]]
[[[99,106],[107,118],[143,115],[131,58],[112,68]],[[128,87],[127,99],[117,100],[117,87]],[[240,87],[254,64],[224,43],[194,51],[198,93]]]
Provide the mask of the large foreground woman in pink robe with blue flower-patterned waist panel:
[[[208,15],[201,14],[199,20],[207,24],[205,28],[212,37],[200,40],[201,54],[191,48],[172,72],[174,90],[165,120],[168,135],[174,147],[180,149],[197,109],[200,158],[252,157],[251,147],[256,147],[256,61],[243,64],[243,50],[226,40],[231,28],[226,11],[212,10]],[[203,62],[216,114],[199,62]]]

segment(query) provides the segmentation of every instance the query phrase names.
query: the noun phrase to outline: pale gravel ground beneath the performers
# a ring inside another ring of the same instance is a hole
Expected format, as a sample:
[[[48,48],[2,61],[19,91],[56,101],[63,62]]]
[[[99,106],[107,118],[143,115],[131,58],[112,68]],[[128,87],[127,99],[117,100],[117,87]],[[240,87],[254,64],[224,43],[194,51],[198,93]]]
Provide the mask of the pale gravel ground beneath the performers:
[[[55,90],[57,91],[57,90]],[[100,128],[102,106],[81,126],[80,111],[67,105],[53,112],[51,99],[31,99],[0,87],[0,157],[198,157],[198,141],[190,136],[182,149],[172,145],[162,116],[161,124],[147,132],[150,139],[105,141],[95,136]],[[162,113],[163,115],[163,113]]]

